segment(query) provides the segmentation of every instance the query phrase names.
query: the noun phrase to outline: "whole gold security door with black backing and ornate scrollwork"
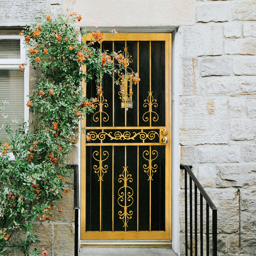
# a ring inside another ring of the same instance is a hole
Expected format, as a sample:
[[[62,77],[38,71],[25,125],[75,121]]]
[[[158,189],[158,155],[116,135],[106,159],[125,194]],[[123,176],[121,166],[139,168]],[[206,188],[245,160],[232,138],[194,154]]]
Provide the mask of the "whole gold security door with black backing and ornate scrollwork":
[[[128,62],[113,73],[122,91],[110,75],[100,96],[95,79],[83,84],[98,102],[82,121],[81,240],[171,240],[171,34],[119,33],[95,47]]]

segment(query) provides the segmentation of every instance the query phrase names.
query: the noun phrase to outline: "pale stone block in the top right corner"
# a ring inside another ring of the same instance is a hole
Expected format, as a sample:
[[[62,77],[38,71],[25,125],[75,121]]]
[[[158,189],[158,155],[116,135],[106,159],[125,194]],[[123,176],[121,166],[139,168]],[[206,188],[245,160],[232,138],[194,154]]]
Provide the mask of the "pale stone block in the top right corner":
[[[233,20],[256,20],[256,2],[238,1],[232,3]]]

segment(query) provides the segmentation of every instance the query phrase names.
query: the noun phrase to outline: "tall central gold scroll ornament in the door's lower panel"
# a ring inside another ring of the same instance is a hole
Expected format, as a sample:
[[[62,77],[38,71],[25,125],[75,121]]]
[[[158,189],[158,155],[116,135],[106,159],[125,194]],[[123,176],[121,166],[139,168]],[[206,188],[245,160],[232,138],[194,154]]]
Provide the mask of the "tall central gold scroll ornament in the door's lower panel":
[[[119,218],[123,220],[123,227],[126,230],[126,227],[128,227],[127,223],[129,219],[132,218],[133,211],[128,211],[127,208],[130,207],[133,204],[133,190],[131,187],[127,185],[127,182],[132,182],[132,175],[128,173],[127,171],[128,166],[123,166],[123,174],[119,175],[118,182],[123,182],[123,186],[119,188],[118,190],[118,204],[119,206],[123,207],[123,211],[119,211],[118,215]]]

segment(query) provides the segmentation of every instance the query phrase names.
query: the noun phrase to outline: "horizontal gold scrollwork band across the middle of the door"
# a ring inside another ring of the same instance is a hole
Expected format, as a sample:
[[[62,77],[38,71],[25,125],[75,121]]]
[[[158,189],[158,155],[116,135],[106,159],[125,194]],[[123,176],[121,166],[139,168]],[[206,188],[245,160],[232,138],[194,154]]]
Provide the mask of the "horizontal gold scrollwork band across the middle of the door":
[[[145,139],[150,139],[153,140],[155,139],[155,137],[159,137],[159,134],[155,131],[150,131],[149,133],[145,133],[145,132],[133,132],[131,135],[130,132],[126,131],[124,133],[117,131],[114,133],[114,135],[112,136],[112,132],[106,133],[106,132],[100,132],[100,133],[96,133],[96,132],[89,132],[90,136],[91,136],[91,140],[105,140],[106,136],[109,137],[111,140],[134,140],[137,136],[140,137],[141,140],[145,140]]]

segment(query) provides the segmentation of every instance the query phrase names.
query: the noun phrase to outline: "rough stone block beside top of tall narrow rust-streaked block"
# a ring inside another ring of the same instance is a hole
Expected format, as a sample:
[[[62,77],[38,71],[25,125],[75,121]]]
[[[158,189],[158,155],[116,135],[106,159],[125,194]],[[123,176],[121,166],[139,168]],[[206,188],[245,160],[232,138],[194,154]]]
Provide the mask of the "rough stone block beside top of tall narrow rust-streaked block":
[[[211,75],[230,75],[231,74],[231,59],[224,58],[202,58],[201,60],[201,74],[202,76]]]

